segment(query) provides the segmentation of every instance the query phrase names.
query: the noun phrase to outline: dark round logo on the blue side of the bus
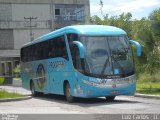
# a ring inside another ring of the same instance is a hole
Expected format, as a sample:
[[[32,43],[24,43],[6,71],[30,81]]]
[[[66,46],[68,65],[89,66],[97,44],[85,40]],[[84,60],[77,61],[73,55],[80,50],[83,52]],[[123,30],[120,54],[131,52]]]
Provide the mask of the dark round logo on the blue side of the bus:
[[[36,77],[37,77],[38,88],[43,89],[46,82],[46,77],[45,77],[45,69],[42,64],[39,64],[37,67]]]

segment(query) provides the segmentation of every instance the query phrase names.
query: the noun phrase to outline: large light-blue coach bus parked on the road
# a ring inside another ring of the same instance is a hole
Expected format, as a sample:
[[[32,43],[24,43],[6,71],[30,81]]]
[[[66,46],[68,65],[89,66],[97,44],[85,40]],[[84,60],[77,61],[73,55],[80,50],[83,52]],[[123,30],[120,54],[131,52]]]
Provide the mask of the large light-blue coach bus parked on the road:
[[[141,45],[127,33],[105,25],[75,25],[45,34],[21,48],[22,86],[40,93],[78,98],[133,95],[136,75],[131,45]]]

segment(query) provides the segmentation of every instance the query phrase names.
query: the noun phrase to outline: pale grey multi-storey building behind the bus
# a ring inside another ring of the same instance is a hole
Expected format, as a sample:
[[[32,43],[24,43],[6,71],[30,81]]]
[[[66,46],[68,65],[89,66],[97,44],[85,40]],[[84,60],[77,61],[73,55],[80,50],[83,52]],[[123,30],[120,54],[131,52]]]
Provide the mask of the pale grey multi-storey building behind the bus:
[[[86,23],[89,0],[0,0],[0,76],[13,75],[23,44],[63,26]]]

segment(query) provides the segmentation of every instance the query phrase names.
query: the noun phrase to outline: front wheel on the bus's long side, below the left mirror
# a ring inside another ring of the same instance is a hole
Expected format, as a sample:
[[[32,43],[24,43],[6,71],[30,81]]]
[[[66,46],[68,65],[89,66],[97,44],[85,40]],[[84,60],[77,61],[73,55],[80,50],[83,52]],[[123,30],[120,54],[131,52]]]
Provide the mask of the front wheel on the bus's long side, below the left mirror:
[[[74,97],[71,95],[71,88],[70,88],[69,83],[66,83],[65,85],[65,96],[66,96],[66,100],[69,103],[74,102]]]

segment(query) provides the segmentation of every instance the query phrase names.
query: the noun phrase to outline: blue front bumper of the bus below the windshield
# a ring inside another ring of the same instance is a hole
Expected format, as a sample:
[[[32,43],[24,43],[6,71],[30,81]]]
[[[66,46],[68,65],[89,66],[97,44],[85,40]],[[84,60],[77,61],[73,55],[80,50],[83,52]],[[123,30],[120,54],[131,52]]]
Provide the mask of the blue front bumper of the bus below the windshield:
[[[74,96],[83,98],[95,98],[105,96],[118,96],[118,95],[134,95],[136,91],[135,75],[128,77],[129,81],[120,84],[89,84],[87,81],[83,81],[85,84],[78,85],[74,91]]]

